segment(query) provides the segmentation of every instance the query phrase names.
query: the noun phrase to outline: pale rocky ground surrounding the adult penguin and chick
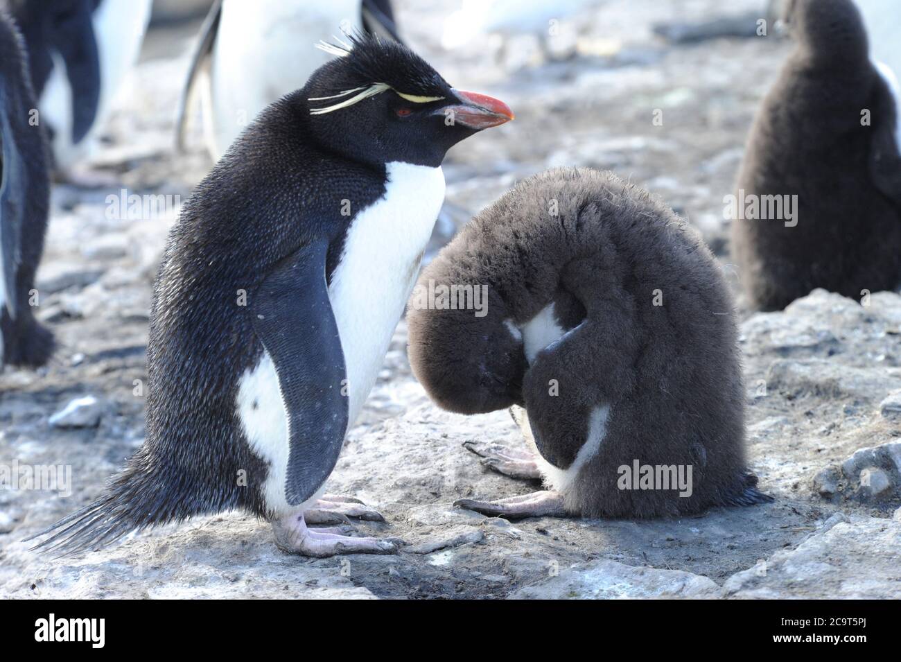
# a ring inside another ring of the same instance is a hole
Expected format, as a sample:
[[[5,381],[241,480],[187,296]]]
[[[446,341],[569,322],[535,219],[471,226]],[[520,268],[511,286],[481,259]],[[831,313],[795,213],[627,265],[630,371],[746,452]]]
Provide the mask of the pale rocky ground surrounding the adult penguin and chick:
[[[451,53],[436,36],[445,3],[399,5],[409,41],[453,85],[496,95],[517,114],[451,153],[448,199],[458,215],[551,165],[611,168],[687,216],[734,282],[723,197],[786,41],[671,44],[654,23],[711,18],[723,4],[599,0],[560,23],[551,61],[537,61],[533,37]],[[729,5],[762,13],[763,3]],[[150,32],[90,162],[113,185],[54,190],[39,290],[59,351],[36,373],[7,367],[0,376],[0,466],[67,465],[71,494],[0,490],[0,595],[901,596],[901,296],[892,293],[861,305],[816,291],[782,313],[741,311],[751,467],[774,503],[661,521],[508,522],[455,509],[460,497],[534,485],[491,472],[463,448],[517,443],[518,432],[503,412],[464,417],[430,404],[411,375],[402,323],[329,483],[378,508],[386,521],[359,522],[359,531],[404,539],[401,553],[289,556],[268,524],[240,513],[82,558],[28,551],[24,537],[93,499],[143,438],[150,286],[174,213],[123,217],[107,195],[171,195],[175,209],[209,168],[199,143],[187,156],[171,149],[196,27]],[[453,231],[439,227],[432,248]],[[66,411],[76,398],[86,400]]]

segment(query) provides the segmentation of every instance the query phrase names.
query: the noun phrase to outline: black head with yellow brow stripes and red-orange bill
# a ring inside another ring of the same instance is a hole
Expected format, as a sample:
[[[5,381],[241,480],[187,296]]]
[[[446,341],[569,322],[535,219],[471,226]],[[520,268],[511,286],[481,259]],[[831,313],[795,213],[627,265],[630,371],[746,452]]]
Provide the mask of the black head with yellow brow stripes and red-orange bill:
[[[456,143],[513,119],[497,99],[452,88],[401,43],[350,41],[323,47],[339,57],[301,91],[314,137],[330,150],[368,163],[434,167]]]

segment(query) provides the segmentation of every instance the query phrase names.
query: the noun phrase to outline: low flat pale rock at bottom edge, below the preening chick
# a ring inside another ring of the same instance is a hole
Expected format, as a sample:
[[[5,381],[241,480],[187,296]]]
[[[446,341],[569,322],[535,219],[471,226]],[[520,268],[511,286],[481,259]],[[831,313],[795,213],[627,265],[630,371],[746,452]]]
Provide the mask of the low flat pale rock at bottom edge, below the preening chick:
[[[556,571],[551,566],[549,572]],[[720,587],[709,577],[681,570],[633,567],[610,560],[596,560],[560,568],[560,574],[533,585],[523,586],[510,598],[610,599],[610,598],[697,598],[715,597]]]

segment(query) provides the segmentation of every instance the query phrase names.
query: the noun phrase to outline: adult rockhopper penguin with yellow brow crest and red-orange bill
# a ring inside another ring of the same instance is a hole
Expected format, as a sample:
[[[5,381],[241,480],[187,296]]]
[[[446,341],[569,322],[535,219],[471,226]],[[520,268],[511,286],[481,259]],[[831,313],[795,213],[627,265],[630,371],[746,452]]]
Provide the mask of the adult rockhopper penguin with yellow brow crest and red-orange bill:
[[[396,42],[329,50],[340,57],[261,113],[185,205],[150,312],[147,439],[42,545],[241,508],[273,521],[283,549],[396,549],[307,529],[305,511],[323,507],[404,311],[445,152],[513,114]]]

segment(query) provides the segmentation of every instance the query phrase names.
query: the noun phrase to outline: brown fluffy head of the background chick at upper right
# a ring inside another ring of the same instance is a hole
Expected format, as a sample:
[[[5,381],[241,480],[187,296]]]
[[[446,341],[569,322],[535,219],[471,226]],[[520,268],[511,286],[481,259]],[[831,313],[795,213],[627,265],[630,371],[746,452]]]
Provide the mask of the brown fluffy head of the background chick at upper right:
[[[813,59],[856,63],[868,58],[867,31],[853,0],[787,0],[783,19]]]

